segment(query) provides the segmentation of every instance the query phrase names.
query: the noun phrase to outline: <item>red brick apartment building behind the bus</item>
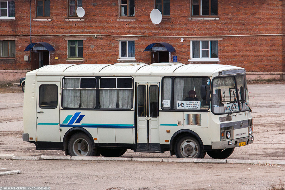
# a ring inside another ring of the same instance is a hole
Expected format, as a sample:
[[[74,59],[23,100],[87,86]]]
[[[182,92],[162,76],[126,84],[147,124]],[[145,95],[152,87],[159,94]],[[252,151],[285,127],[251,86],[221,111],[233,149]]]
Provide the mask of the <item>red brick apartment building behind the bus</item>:
[[[84,17],[76,15],[83,7]],[[150,20],[152,9],[160,24]],[[48,64],[229,64],[250,78],[282,78],[282,0],[0,0],[0,81]],[[40,43],[25,48],[36,42]],[[166,42],[150,51],[152,43]],[[28,56],[28,57],[27,57]]]

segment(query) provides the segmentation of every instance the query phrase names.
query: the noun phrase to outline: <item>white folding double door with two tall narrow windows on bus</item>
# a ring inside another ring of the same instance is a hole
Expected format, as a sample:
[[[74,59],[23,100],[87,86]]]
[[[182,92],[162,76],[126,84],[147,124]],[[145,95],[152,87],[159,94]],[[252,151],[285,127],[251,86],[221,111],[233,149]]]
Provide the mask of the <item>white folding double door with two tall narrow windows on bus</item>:
[[[137,152],[160,152],[159,83],[137,84]]]

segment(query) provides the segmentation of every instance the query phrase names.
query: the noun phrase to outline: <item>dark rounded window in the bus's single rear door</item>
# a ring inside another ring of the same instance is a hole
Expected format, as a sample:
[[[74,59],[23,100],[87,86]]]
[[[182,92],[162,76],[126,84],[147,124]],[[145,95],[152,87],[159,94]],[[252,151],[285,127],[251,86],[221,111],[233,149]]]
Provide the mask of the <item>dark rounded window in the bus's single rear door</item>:
[[[57,85],[40,85],[39,89],[39,107],[40,108],[56,108],[58,101]]]

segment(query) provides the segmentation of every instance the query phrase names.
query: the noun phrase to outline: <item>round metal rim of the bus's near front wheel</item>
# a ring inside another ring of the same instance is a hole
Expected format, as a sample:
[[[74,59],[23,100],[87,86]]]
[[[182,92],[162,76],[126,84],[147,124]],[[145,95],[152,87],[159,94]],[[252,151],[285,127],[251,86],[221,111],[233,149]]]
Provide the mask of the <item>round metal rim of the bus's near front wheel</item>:
[[[180,145],[180,152],[185,158],[194,158],[199,151],[198,145],[195,141],[184,140]]]

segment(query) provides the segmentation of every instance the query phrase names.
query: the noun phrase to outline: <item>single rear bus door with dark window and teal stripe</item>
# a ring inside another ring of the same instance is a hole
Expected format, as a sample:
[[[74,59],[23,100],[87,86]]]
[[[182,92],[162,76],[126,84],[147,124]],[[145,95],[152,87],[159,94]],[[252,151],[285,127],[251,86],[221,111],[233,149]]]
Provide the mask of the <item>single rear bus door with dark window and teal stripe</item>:
[[[37,141],[60,142],[59,93],[60,82],[37,83]]]

